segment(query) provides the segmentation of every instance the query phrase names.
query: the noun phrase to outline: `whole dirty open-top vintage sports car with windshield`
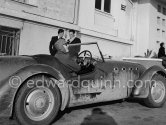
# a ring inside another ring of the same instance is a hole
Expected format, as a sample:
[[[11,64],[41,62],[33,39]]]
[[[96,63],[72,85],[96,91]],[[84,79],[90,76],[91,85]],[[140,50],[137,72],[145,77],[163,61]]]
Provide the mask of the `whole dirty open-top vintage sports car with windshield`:
[[[1,56],[0,116],[49,125],[74,106],[129,97],[153,108],[165,103],[166,72],[158,61],[105,59],[96,42],[71,46],[78,45],[80,71],[50,55]]]

